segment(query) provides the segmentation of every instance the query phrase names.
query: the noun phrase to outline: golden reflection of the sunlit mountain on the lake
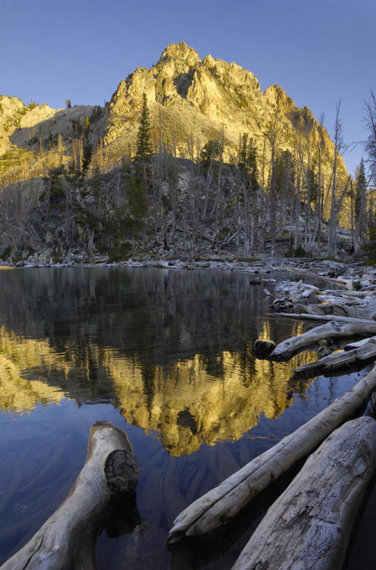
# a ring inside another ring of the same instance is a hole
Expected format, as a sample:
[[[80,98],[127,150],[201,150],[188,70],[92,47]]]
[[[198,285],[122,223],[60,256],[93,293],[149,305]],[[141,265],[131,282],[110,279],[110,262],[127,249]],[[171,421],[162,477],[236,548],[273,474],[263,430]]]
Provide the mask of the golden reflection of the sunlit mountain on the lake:
[[[266,329],[262,336],[269,334]],[[38,403],[58,404],[65,397],[92,402],[107,395],[127,422],[155,430],[163,447],[180,456],[202,444],[240,438],[261,413],[277,418],[291,402],[293,369],[311,359],[305,353],[289,363],[256,360],[250,343],[245,354],[223,351],[212,361],[196,354],[168,367],[145,368],[115,349],[90,343],[85,351],[69,345],[56,351],[46,340],[22,338],[1,327],[0,407],[27,413]]]

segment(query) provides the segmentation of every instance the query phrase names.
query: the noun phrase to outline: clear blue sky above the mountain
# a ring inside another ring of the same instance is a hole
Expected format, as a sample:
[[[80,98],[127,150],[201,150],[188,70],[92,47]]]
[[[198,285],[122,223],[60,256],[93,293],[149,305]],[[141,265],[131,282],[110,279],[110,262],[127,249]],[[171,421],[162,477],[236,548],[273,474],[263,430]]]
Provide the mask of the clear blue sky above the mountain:
[[[325,113],[333,132],[363,140],[364,100],[376,91],[376,0],[0,0],[0,94],[51,107],[101,104],[172,42],[235,61],[265,90]],[[350,173],[362,155],[345,152]]]

